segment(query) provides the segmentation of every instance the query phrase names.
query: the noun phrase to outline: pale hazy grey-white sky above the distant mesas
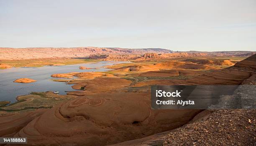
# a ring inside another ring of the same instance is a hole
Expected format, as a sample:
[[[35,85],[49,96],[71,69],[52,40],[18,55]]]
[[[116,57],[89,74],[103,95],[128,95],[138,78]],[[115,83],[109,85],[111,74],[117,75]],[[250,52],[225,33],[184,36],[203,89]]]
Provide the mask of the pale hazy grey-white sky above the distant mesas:
[[[0,0],[0,47],[256,51],[256,0]]]

